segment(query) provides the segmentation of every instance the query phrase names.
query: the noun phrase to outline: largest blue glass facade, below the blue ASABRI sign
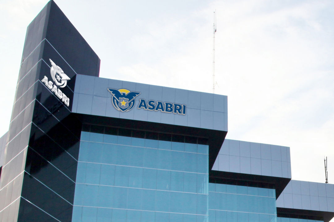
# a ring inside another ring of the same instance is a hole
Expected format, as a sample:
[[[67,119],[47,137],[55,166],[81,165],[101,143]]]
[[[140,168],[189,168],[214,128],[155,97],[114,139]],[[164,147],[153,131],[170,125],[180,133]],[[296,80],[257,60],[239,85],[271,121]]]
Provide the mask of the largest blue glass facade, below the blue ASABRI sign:
[[[208,220],[208,145],[105,131],[81,132],[73,222]]]

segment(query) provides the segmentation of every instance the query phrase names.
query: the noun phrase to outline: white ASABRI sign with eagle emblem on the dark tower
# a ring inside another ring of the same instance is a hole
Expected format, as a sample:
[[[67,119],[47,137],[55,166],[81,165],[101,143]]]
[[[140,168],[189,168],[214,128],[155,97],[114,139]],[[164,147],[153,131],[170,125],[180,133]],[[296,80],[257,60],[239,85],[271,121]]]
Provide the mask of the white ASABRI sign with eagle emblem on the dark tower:
[[[51,74],[52,80],[55,82],[55,85],[59,86],[60,88],[64,88],[67,84],[67,80],[70,80],[70,78],[51,59],[49,60],[51,63],[50,74]],[[44,83],[45,86],[47,86],[47,88],[51,90],[51,92],[54,92],[54,94],[59,99],[61,99],[61,101],[66,106],[69,106],[69,98],[67,98],[67,96],[63,92],[61,92],[60,89],[58,89],[55,85],[53,85],[52,81],[48,81],[48,78],[44,76],[41,82]]]

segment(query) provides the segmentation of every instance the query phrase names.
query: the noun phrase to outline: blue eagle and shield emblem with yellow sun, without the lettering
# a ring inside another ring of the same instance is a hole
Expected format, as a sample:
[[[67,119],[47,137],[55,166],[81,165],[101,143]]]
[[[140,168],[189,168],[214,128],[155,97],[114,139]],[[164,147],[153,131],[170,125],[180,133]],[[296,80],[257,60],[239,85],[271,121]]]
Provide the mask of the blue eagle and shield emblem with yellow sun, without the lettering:
[[[113,95],[112,101],[115,109],[122,112],[130,111],[135,105],[135,98],[140,94],[126,89],[108,89],[108,91]]]

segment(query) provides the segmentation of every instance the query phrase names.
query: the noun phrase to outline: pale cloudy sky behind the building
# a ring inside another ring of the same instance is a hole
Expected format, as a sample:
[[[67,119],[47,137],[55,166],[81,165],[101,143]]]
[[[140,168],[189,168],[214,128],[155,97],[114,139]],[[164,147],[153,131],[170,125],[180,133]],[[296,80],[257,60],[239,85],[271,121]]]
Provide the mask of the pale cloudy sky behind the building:
[[[56,0],[101,59],[100,77],[228,97],[226,138],[289,146],[292,178],[334,183],[333,1]],[[26,28],[47,0],[0,0],[0,134]]]

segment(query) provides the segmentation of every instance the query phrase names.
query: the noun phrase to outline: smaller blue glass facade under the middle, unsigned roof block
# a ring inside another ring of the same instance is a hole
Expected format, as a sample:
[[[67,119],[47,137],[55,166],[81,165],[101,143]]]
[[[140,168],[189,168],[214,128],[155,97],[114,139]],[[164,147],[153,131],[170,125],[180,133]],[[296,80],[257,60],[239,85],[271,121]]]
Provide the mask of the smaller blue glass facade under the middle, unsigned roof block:
[[[209,222],[276,222],[275,189],[209,183]]]

